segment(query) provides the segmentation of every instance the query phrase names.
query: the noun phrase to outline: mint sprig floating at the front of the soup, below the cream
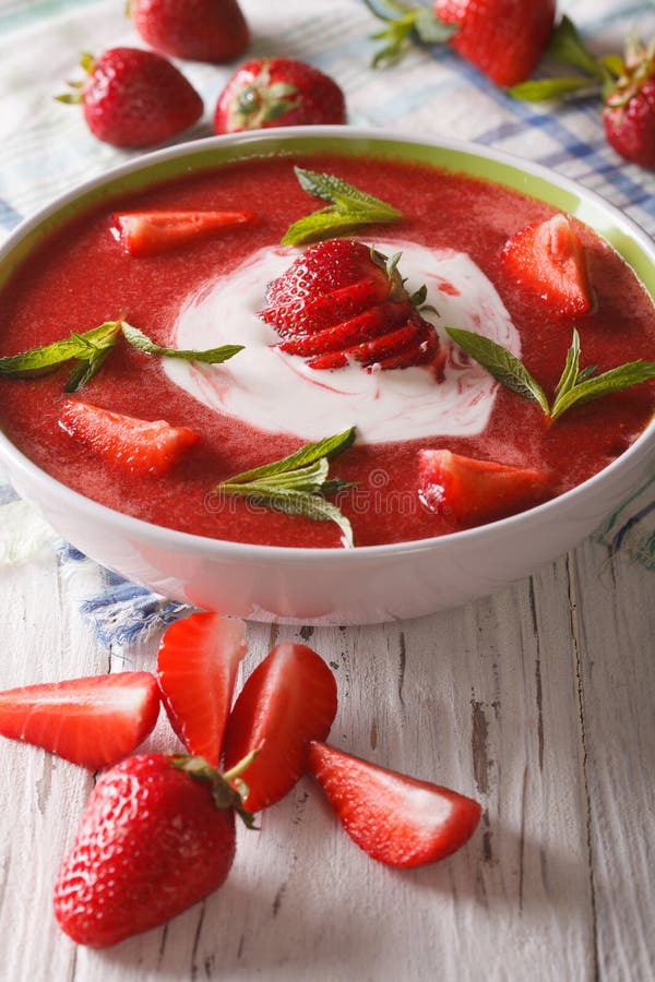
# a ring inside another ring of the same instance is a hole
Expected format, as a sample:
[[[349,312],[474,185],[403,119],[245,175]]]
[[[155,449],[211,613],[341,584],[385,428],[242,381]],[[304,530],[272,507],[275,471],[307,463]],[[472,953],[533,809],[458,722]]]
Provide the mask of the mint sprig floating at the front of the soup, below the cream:
[[[307,443],[288,457],[222,481],[214,494],[248,498],[287,515],[305,515],[314,522],[334,522],[342,531],[344,544],[352,547],[349,520],[326,498],[349,487],[338,478],[330,478],[330,460],[347,450],[354,440],[355,427],[350,427],[335,436]]]

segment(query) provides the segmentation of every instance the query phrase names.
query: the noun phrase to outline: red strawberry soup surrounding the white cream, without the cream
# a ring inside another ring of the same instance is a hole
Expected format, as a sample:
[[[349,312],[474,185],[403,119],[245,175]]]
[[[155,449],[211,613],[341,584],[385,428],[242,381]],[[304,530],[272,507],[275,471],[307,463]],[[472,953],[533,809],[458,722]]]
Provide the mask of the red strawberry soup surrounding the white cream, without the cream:
[[[597,371],[605,371],[653,358],[652,300],[627,264],[586,227],[575,224],[586,252],[594,309],[573,320],[551,315],[539,297],[508,277],[500,259],[507,240],[528,224],[549,218],[555,213],[551,207],[502,187],[424,165],[341,156],[226,165],[129,199],[111,200],[75,219],[29,255],[4,288],[2,355],[121,319],[159,345],[179,347],[176,324],[189,298],[206,291],[214,280],[229,280],[260,250],[274,251],[289,224],[317,207],[315,200],[300,188],[294,164],[336,175],[402,209],[400,221],[367,227],[352,238],[380,240],[386,248],[397,242],[400,250],[409,242],[442,255],[448,255],[448,250],[467,254],[497,292],[501,308],[504,306],[520,338],[521,359],[549,397],[562,371],[573,326],[581,337],[582,366],[594,364]],[[111,233],[112,214],[166,207],[247,208],[257,219],[156,255],[127,254]],[[291,260],[287,255],[283,267]],[[466,292],[449,277],[433,288],[436,283],[438,279],[430,280],[426,302],[438,312],[445,298]],[[261,295],[252,300],[254,309],[265,306],[265,287],[262,282]],[[469,298],[471,302],[475,304]],[[473,322],[479,323],[476,330],[484,334],[485,312],[473,314]],[[440,320],[433,319],[433,323],[439,326]],[[238,321],[230,332],[231,340],[241,343]],[[223,337],[216,342],[221,343]],[[239,357],[225,367],[237,372]],[[219,379],[225,367],[209,371],[218,373]],[[338,392],[340,371],[315,372],[317,385]],[[489,376],[480,372],[489,385]],[[307,443],[302,426],[295,432],[288,426],[279,429],[274,414],[258,426],[252,419],[221,411],[176,384],[164,359],[144,355],[119,337],[102,370],[74,398],[133,417],[166,419],[174,426],[191,427],[200,436],[166,476],[139,476],[97,455],[59,424],[62,405],[70,398],[63,392],[68,373],[70,366],[68,372],[63,368],[41,378],[0,381],[4,431],[59,481],[117,511],[200,536],[283,546],[340,546],[340,529],[331,522],[283,514],[241,499],[219,500],[211,493],[227,477]],[[261,378],[260,385],[272,405],[277,397],[281,404],[295,398],[293,370],[288,379],[285,391],[276,393],[269,391],[275,380]],[[438,386],[439,380],[433,384]],[[452,514],[437,514],[421,501],[420,450],[448,448],[481,460],[538,468],[549,476],[546,496],[553,496],[586,480],[630,446],[655,405],[651,381],[575,407],[551,423],[536,403],[503,385],[491,383],[491,387],[488,415],[479,432],[417,436],[409,423],[405,432],[402,412],[392,412],[392,439],[380,439],[382,428],[374,441],[360,436],[332,462],[331,475],[356,482],[338,496],[340,507],[352,522],[356,546],[439,536],[471,524],[457,522]],[[298,420],[303,420],[301,398],[296,412]],[[358,419],[352,422],[357,426]],[[338,429],[325,427],[319,435],[329,436]]]

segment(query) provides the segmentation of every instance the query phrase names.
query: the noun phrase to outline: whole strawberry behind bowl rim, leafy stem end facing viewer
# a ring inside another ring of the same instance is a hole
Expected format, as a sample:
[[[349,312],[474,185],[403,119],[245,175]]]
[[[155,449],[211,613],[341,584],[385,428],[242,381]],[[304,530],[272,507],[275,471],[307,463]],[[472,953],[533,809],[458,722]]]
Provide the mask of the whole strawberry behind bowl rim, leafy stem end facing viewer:
[[[248,61],[216,104],[216,133],[266,127],[345,123],[346,101],[329,75],[293,58]]]

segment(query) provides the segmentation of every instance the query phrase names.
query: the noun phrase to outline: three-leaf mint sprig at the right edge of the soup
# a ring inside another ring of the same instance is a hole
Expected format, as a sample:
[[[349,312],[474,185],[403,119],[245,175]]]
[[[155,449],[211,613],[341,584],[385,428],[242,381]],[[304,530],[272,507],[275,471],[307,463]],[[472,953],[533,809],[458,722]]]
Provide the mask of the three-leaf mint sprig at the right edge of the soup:
[[[580,335],[573,328],[573,340],[567,352],[567,361],[549,404],[539,383],[533,379],[525,366],[502,345],[473,331],[446,327],[446,333],[464,351],[481,364],[490,375],[512,392],[538,403],[546,416],[555,422],[573,406],[590,403],[610,392],[631,388],[640,382],[655,379],[655,362],[630,361],[596,375],[596,366],[580,369]]]

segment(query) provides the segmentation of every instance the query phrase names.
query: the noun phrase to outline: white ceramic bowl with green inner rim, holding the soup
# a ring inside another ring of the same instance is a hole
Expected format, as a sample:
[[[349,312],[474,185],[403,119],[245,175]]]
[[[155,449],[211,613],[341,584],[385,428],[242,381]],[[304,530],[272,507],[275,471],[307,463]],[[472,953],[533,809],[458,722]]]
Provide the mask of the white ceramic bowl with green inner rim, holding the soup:
[[[575,215],[605,237],[655,295],[655,247],[626,215],[571,181],[510,155],[457,141],[417,141],[353,127],[215,137],[140,157],[90,181],[23,223],[0,271],[41,230],[102,195],[166,180],[209,160],[312,152],[402,156],[488,178]],[[2,277],[4,278],[4,277]],[[16,490],[88,556],[171,599],[253,620],[352,624],[414,618],[465,603],[526,576],[575,546],[652,471],[655,422],[617,460],[546,504],[434,539],[353,550],[249,546],[150,525],[97,504],[36,467],[3,434],[0,458]]]

